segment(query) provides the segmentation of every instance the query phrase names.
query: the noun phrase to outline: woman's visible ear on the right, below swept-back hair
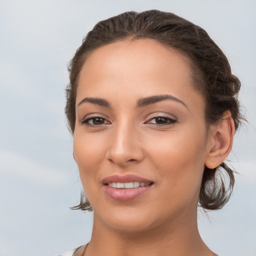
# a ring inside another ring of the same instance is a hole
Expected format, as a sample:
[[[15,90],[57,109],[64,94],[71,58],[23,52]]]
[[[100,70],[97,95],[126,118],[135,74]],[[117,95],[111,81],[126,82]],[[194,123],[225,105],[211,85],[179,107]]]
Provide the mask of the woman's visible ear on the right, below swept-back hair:
[[[205,158],[206,167],[213,169],[226,159],[232,148],[234,131],[233,118],[231,113],[226,111],[221,121],[211,127]]]

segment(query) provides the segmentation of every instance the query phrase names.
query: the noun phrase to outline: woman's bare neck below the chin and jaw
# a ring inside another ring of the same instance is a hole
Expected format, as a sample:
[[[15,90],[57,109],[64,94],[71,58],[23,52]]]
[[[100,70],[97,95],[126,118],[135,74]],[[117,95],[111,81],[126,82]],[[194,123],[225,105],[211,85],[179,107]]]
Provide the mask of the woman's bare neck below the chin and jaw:
[[[136,256],[136,255],[196,255],[212,256],[202,241],[196,215],[179,217],[168,225],[137,232],[123,232],[100,221],[94,214],[91,240],[86,256]]]

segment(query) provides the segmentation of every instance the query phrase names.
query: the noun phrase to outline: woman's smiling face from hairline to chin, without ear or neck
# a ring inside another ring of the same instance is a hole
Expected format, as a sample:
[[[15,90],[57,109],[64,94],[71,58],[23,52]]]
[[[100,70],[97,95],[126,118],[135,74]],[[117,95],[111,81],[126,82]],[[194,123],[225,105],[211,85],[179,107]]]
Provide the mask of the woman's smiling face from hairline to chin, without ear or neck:
[[[78,80],[73,138],[94,221],[138,231],[196,217],[209,147],[204,102],[175,49],[137,39],[93,51]]]

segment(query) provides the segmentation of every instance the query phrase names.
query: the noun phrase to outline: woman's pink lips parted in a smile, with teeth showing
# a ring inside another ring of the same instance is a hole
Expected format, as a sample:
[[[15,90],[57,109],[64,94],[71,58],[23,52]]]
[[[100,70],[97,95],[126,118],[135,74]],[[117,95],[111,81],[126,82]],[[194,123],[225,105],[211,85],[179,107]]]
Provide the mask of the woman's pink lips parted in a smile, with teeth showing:
[[[146,193],[153,185],[153,181],[133,175],[111,175],[102,179],[104,191],[114,200],[134,200]]]

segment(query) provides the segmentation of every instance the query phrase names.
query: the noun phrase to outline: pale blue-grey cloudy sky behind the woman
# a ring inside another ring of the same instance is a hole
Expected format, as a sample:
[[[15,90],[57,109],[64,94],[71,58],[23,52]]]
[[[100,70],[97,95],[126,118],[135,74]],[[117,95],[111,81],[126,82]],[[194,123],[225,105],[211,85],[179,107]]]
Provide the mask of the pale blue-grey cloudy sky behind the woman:
[[[241,80],[248,124],[229,155],[240,175],[227,205],[198,212],[198,225],[215,252],[256,256],[256,0],[0,0],[0,256],[56,256],[89,240],[92,214],[68,208],[81,185],[66,64],[97,21],[146,9],[202,26]]]

